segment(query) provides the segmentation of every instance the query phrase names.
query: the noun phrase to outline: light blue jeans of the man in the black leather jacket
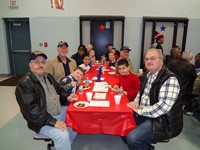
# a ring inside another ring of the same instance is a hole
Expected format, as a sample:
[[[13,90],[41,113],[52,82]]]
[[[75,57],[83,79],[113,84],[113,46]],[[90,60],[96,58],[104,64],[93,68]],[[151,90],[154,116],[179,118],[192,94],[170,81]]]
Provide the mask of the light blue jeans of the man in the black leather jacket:
[[[67,106],[62,106],[60,114],[53,117],[65,122],[66,109]],[[71,127],[67,128],[68,131],[62,131],[61,129],[45,125],[41,128],[40,134],[50,137],[54,142],[56,150],[71,150],[71,143],[73,142],[77,133],[74,132]]]

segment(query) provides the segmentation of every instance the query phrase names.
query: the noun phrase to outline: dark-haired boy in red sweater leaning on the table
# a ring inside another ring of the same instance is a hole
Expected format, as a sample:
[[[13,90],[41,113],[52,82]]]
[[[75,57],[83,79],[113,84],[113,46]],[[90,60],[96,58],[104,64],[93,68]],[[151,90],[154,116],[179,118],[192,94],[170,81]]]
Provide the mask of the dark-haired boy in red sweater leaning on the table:
[[[129,101],[133,101],[140,90],[140,79],[137,75],[130,72],[129,63],[126,59],[120,59],[117,62],[117,69],[119,70],[119,83],[114,85],[113,91],[119,92],[120,86],[127,95]]]

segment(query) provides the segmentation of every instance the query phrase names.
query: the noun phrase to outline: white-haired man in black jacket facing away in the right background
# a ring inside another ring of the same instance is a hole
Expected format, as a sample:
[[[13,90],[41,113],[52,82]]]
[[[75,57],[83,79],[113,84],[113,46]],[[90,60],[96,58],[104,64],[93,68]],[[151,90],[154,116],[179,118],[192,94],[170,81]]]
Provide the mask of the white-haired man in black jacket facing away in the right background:
[[[197,74],[195,66],[190,63],[193,58],[192,53],[189,50],[185,50],[181,58],[181,61],[171,65],[169,69],[179,77],[182,93],[189,94],[192,93]]]

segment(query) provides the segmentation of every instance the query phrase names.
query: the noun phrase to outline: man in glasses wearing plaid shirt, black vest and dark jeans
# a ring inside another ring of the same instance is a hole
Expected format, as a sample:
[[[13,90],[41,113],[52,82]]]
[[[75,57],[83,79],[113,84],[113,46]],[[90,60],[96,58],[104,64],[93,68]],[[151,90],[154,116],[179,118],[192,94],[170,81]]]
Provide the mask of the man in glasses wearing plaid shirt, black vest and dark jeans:
[[[127,136],[130,150],[148,150],[148,144],[173,138],[183,127],[180,85],[175,74],[163,66],[162,52],[147,50],[144,62],[149,71],[135,100],[128,104],[137,124]]]

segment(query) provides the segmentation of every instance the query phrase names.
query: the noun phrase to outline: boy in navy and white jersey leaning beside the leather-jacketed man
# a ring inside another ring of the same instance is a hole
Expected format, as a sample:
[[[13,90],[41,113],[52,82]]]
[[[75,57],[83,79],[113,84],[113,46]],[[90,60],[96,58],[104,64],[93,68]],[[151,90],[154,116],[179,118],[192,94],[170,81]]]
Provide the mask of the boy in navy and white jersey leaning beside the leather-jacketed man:
[[[63,87],[69,95],[75,93],[84,73],[85,71],[81,67],[76,67],[72,74],[60,80],[60,86]]]

